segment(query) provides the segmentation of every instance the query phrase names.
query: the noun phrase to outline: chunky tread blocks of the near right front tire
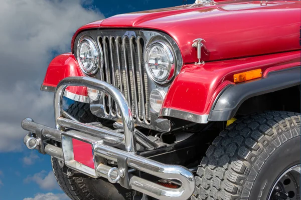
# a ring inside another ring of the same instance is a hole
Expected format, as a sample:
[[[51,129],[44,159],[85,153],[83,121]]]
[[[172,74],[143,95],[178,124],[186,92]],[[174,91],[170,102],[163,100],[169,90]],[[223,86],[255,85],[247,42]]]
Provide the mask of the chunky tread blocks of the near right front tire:
[[[237,119],[206,151],[191,199],[240,199],[256,157],[280,134],[299,126],[300,114],[285,111],[265,111]]]

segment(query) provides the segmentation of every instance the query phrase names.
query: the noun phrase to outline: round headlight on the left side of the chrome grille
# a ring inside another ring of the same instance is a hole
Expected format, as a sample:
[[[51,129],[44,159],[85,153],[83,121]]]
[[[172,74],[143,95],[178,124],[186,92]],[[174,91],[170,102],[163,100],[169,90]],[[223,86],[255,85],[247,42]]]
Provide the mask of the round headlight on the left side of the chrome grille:
[[[100,66],[99,50],[92,38],[82,37],[77,45],[77,61],[80,68],[88,75],[95,74]]]

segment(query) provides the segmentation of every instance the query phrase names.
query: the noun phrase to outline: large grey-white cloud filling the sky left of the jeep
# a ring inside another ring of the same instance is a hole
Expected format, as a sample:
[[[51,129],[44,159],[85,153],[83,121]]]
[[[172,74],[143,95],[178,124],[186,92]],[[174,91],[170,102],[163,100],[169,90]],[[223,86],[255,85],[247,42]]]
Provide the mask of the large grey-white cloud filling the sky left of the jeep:
[[[82,3],[89,9],[83,8]],[[53,52],[70,51],[76,29],[104,18],[87,0],[2,0],[0,152],[24,148],[21,120],[54,126],[53,93],[40,91]]]

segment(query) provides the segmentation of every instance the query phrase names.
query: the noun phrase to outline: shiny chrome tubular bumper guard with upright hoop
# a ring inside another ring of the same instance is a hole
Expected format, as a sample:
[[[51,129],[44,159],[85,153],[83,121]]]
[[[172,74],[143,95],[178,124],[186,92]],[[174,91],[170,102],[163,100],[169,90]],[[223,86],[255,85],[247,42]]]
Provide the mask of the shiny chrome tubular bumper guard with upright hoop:
[[[87,86],[110,95],[117,103],[122,120],[124,134],[99,128],[91,124],[71,120],[63,110],[63,94],[67,86]],[[188,199],[195,188],[194,175],[186,167],[164,164],[149,158],[136,155],[136,142],[147,149],[155,149],[158,143],[149,139],[134,128],[131,110],[123,94],[114,86],[90,77],[68,77],[57,86],[54,96],[56,128],[34,122],[31,118],[22,121],[22,127],[30,131],[24,137],[24,143],[30,149],[49,154],[64,160],[66,166],[91,177],[104,177],[110,182],[118,182],[121,186],[134,189],[158,199]],[[69,118],[65,118],[66,116]],[[89,171],[76,165],[73,155],[72,138],[90,143],[93,148],[95,170]],[[62,142],[62,147],[48,143],[49,139]],[[107,145],[121,143],[125,151]],[[117,162],[118,167],[105,165],[103,160]],[[137,169],[163,179],[180,182],[179,188],[168,188],[155,182],[132,175],[128,167]]]

